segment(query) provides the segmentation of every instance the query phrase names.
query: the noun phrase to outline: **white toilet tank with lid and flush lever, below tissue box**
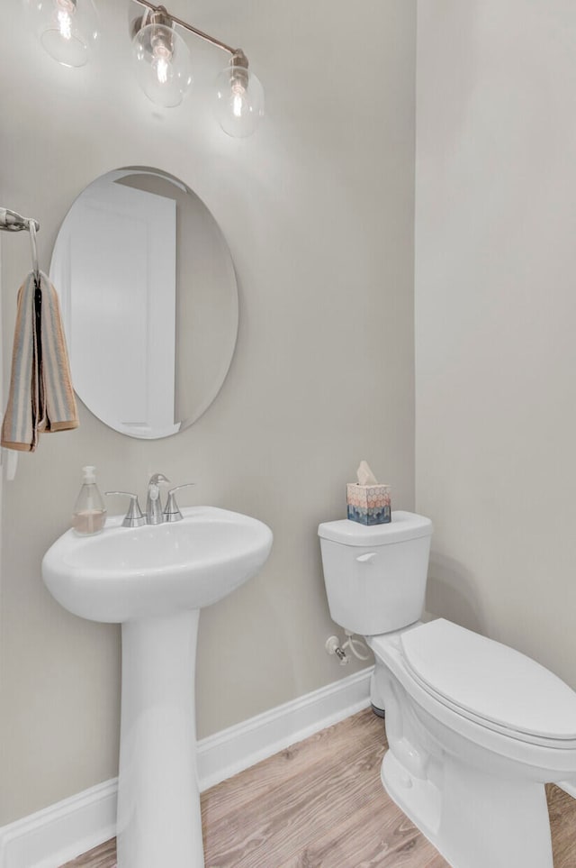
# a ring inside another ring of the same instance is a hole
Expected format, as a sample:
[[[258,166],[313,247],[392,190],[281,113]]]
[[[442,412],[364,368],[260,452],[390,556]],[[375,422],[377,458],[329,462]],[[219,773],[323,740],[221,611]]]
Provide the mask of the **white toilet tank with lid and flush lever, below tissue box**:
[[[392,512],[385,525],[343,519],[318,528],[330,616],[359,635],[400,630],[424,609],[432,522]]]

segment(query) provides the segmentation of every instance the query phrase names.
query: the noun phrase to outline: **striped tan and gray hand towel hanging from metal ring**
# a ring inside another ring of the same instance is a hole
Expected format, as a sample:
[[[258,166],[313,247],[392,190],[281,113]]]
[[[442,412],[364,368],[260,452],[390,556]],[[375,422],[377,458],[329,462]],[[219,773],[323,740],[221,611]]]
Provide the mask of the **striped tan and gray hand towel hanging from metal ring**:
[[[2,445],[33,452],[40,432],[63,431],[77,425],[58,296],[42,272],[37,292],[31,272],[18,293]]]

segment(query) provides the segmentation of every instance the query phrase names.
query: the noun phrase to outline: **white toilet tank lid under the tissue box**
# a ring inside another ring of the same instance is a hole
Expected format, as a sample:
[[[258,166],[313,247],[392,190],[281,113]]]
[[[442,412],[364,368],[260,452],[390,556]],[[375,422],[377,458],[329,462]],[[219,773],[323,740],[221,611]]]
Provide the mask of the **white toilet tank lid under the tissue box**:
[[[319,525],[318,535],[325,540],[346,545],[387,545],[431,536],[432,522],[425,516],[401,509],[392,512],[392,521],[384,525],[361,525],[357,521],[343,518],[340,521],[326,521]]]

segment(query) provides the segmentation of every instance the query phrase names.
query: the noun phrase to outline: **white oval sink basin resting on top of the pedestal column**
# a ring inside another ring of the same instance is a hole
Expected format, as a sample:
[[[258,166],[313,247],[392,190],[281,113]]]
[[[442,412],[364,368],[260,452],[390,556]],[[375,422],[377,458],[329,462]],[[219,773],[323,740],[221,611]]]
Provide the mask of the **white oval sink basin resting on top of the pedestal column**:
[[[272,532],[256,518],[217,507],[182,514],[134,528],[114,517],[95,536],[69,530],[44,556],[44,582],[74,615],[122,622],[211,606],[266,561]]]

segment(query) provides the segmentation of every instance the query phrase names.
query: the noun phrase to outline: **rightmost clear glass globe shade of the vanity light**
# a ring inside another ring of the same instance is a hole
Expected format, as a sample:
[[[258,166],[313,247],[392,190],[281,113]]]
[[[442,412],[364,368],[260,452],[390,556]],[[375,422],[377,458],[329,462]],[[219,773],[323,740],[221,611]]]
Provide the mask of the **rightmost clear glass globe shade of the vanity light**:
[[[264,117],[264,88],[241,66],[222,69],[216,79],[215,114],[224,132],[242,139],[255,132]]]

